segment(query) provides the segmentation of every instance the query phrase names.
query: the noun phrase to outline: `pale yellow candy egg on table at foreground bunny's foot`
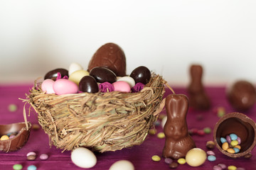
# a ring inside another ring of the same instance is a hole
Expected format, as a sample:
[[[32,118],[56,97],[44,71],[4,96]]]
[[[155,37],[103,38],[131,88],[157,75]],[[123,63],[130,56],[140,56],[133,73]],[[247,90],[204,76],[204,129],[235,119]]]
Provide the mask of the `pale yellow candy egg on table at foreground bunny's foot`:
[[[186,163],[190,166],[201,166],[206,162],[206,152],[200,148],[190,149],[186,154]]]

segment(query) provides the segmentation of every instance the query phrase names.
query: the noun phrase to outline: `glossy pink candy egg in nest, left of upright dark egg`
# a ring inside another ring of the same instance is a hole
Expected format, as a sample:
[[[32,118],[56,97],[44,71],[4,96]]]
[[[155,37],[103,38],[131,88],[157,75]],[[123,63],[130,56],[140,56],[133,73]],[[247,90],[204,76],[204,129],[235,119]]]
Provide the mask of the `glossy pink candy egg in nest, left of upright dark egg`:
[[[53,83],[55,94],[77,94],[78,85],[68,79],[58,79]]]

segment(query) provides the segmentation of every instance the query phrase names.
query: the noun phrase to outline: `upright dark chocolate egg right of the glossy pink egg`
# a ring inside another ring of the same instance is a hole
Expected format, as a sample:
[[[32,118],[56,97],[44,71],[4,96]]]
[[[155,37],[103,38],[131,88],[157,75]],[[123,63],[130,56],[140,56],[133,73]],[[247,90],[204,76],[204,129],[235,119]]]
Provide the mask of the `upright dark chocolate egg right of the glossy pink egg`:
[[[92,76],[85,76],[79,82],[79,90],[87,93],[97,93],[99,87],[97,81]]]

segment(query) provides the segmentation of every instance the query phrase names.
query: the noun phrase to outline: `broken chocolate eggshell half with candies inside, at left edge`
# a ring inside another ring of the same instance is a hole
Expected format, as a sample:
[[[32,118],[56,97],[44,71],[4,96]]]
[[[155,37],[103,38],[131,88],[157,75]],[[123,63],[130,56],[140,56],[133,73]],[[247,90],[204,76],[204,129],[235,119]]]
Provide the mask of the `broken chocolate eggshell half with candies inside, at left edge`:
[[[0,125],[0,135],[6,135],[10,132],[18,132],[18,134],[9,140],[0,140],[0,151],[11,152],[21,149],[28,141],[30,135],[31,123],[13,123],[9,125]]]

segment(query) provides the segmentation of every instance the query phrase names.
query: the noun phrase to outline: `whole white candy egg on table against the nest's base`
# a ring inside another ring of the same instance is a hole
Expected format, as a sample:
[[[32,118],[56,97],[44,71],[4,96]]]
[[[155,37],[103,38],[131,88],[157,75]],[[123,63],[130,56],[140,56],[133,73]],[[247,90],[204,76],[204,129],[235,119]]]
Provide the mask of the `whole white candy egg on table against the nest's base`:
[[[81,168],[92,168],[97,163],[97,158],[93,152],[85,147],[78,147],[71,152],[72,162]]]

